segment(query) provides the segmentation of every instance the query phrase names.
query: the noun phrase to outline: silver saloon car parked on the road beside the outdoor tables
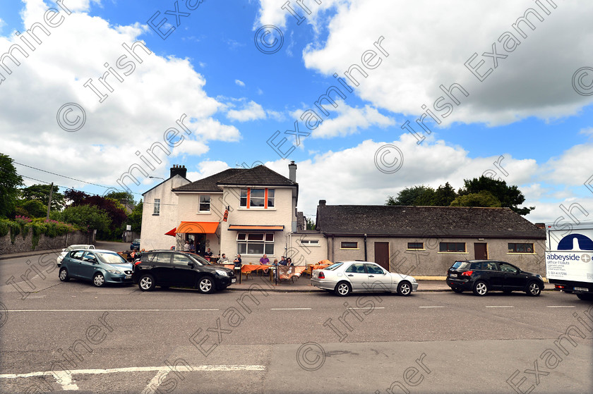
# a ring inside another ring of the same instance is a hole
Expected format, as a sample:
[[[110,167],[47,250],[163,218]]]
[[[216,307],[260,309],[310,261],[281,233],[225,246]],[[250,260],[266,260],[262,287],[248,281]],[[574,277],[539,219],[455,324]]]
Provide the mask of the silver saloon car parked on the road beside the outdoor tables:
[[[418,289],[413,276],[388,272],[369,261],[343,261],[311,273],[311,285],[340,296],[354,292],[390,292],[410,295]]]

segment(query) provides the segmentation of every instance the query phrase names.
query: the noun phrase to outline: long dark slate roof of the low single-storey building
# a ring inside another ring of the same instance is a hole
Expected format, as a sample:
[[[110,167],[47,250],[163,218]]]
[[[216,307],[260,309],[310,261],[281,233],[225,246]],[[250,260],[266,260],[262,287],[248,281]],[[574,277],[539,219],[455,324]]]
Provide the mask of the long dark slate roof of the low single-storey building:
[[[329,235],[546,239],[509,208],[321,205],[316,224]]]

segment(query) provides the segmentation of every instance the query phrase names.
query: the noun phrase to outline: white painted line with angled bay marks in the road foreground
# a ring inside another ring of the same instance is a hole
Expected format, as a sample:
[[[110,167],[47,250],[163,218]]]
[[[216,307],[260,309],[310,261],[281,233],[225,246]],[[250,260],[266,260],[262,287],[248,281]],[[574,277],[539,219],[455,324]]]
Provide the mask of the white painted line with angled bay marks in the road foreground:
[[[157,385],[159,377],[164,372],[168,374],[171,371],[171,367],[164,365],[162,367],[127,367],[127,368],[110,368],[110,369],[73,369],[70,373],[66,371],[37,371],[29,372],[27,374],[0,374],[0,378],[30,378],[33,376],[51,376],[53,375],[56,381],[62,386],[62,390],[78,390],[76,383],[73,383],[72,375],[75,374],[116,374],[118,372],[144,372],[144,371],[156,371],[157,375],[152,378],[150,385]],[[188,371],[265,371],[265,365],[197,365],[190,366]]]

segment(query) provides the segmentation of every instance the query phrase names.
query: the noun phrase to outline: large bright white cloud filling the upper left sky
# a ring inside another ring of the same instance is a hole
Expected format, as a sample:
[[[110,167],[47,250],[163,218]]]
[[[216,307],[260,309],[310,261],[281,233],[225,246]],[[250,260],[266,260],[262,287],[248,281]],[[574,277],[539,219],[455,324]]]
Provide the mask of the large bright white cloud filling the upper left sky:
[[[91,2],[71,0],[64,4],[71,10],[87,11]],[[26,0],[24,25],[43,24],[44,11],[49,7],[40,0]],[[6,78],[0,85],[0,145],[4,154],[48,171],[114,185],[131,164],[140,164],[149,175],[154,174],[134,152],[140,151],[150,159],[146,150],[153,144],[167,147],[164,133],[169,128],[177,128],[186,138],[179,147],[169,149],[172,155],[202,154],[208,151],[211,140],[240,139],[234,126],[212,118],[224,105],[204,92],[205,78],[196,73],[188,59],[164,58],[136,47],[136,56],[143,62],[128,54],[124,61],[130,61],[130,66],[116,67],[117,59],[127,54],[122,44],[137,42],[145,26],[136,23],[112,27],[107,20],[80,12],[60,15],[64,23],[47,27],[49,37],[37,31],[42,44],[35,45],[36,50],[29,51],[28,57],[16,52],[20,66],[7,61],[10,75],[0,69]],[[12,44],[27,48],[18,37],[0,36],[1,48]],[[113,74],[105,78],[113,92],[98,81],[107,71],[104,63],[115,68],[123,79],[120,82]],[[89,78],[107,94],[102,103],[83,86]],[[86,114],[84,127],[75,133],[62,130],[56,123],[60,106],[71,102],[80,104]],[[191,134],[176,125],[184,113],[184,125]],[[158,149],[155,152],[162,164],[151,162],[155,171],[162,171],[169,159]],[[22,173],[42,178],[36,171],[23,169]],[[74,186],[69,180],[63,184]]]

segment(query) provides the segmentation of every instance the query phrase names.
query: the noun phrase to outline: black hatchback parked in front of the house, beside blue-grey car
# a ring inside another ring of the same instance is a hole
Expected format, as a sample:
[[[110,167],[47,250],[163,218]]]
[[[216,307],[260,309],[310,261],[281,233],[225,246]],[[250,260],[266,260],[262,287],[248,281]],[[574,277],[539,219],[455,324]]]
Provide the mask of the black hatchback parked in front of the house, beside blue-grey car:
[[[143,291],[174,286],[212,293],[235,283],[236,276],[232,269],[215,266],[197,254],[151,250],[144,252],[134,266],[132,281]]]

